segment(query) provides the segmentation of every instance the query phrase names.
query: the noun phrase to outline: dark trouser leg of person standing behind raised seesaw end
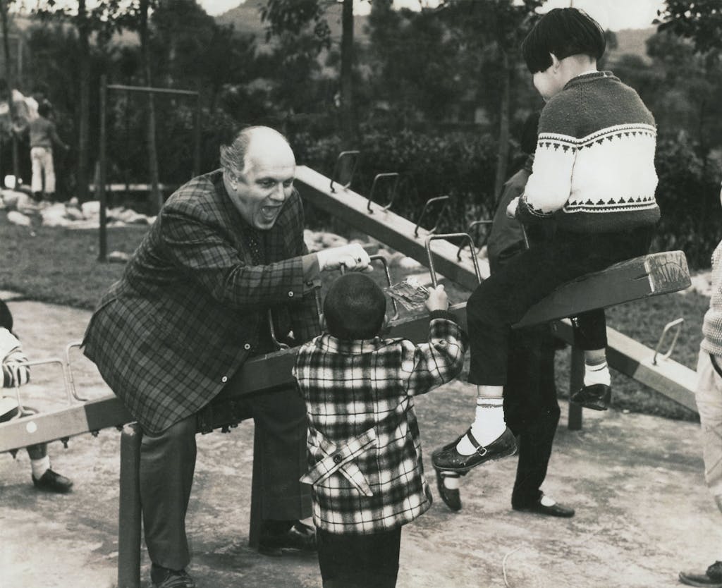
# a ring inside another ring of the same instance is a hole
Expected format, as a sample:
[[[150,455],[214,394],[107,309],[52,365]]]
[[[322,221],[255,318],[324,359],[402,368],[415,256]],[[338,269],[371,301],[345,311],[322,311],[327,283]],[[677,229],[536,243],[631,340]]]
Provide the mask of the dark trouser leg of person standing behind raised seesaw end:
[[[547,477],[560,408],[554,386],[554,340],[549,325],[514,331],[504,389],[509,428],[519,436],[519,461],[511,495],[514,507],[534,504]]]

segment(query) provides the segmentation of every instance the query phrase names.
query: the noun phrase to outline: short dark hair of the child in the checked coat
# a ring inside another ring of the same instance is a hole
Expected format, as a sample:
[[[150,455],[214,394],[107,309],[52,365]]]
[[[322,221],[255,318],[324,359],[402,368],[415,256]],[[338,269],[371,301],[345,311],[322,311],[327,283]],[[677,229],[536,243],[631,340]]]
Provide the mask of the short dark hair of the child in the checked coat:
[[[336,280],[323,301],[326,328],[337,339],[373,339],[383,327],[386,296],[365,274],[352,272]]]

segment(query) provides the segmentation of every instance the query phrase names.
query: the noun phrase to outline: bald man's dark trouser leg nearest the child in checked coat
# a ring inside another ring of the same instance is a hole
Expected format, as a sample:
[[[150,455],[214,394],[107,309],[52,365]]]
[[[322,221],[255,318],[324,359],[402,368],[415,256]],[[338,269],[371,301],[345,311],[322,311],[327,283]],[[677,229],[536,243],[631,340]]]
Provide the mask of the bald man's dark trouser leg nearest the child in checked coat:
[[[262,518],[276,521],[305,519],[311,514],[311,500],[308,485],[299,481],[308,468],[303,399],[294,386],[278,392],[255,394],[248,402],[262,444]]]

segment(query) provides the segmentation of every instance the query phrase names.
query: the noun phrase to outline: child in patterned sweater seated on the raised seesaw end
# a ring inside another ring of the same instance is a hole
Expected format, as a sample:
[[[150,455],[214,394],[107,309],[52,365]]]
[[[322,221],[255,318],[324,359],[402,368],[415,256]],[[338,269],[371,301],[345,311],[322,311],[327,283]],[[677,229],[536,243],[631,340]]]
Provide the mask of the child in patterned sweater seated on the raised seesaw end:
[[[606,46],[599,24],[578,9],[544,14],[522,43],[536,90],[547,100],[531,176],[507,214],[554,220],[550,241],[522,251],[469,298],[469,381],[477,384],[474,423],[435,451],[441,472],[463,474],[513,454],[503,413],[511,326],[559,285],[647,253],[659,219],[654,191],[656,127],[637,92],[597,71]],[[573,321],[586,373],[572,401],[606,410],[611,397],[604,311]]]

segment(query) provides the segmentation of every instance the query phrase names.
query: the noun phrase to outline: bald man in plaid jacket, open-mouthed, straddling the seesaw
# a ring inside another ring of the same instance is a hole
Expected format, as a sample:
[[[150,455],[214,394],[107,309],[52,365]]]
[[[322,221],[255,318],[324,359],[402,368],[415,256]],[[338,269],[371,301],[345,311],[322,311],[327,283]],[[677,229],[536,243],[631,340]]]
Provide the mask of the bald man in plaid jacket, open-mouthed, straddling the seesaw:
[[[221,167],[170,196],[103,296],[84,339],[113,392],[142,425],[140,490],[155,588],[192,588],[185,519],[196,413],[253,355],[320,331],[313,287],[323,270],[363,270],[359,245],[309,254],[295,158],[265,126],[220,148]],[[261,552],[316,550],[305,474],[305,406],[295,389],[247,397],[262,444]]]

